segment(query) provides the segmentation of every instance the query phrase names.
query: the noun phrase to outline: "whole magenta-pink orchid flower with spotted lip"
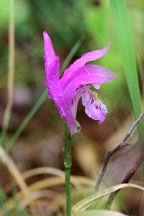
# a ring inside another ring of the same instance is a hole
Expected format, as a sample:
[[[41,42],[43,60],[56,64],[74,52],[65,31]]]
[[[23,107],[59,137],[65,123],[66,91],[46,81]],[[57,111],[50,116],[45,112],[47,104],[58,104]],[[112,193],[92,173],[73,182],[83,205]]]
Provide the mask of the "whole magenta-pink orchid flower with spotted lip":
[[[105,120],[107,108],[98,99],[97,93],[91,90],[89,84],[99,89],[101,84],[111,81],[116,77],[116,74],[104,67],[92,64],[86,65],[86,63],[104,56],[109,49],[110,43],[104,49],[94,50],[82,55],[64,71],[63,77],[59,78],[59,57],[55,54],[49,35],[44,32],[43,37],[45,83],[48,87],[48,96],[54,101],[71,134],[78,132],[80,128],[79,123],[76,121],[77,106],[80,98],[82,98],[86,114],[102,123]]]

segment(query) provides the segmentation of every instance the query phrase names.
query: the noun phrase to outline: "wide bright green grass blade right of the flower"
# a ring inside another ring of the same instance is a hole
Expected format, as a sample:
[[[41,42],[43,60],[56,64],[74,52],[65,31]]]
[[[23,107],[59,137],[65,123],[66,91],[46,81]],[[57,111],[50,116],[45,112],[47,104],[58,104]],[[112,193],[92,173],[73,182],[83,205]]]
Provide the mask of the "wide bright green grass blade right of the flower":
[[[132,101],[132,106],[135,118],[138,118],[142,111],[142,106],[136,69],[136,58],[133,46],[132,33],[128,19],[126,1],[110,0],[110,6],[112,10],[116,37],[122,54],[123,66]],[[143,129],[143,123],[140,122],[138,126],[140,138],[143,137]]]

